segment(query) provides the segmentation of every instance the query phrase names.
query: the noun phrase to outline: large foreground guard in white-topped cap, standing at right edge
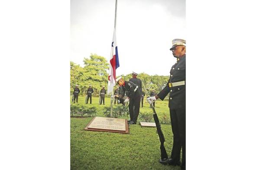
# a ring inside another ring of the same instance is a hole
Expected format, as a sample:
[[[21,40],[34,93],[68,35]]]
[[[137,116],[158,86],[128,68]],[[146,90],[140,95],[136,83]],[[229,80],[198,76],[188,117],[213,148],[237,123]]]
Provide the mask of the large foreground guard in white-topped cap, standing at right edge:
[[[180,154],[182,148],[181,169],[186,166],[186,41],[182,39],[172,40],[170,49],[177,62],[172,66],[170,79],[165,88],[154,97],[147,100],[149,103],[160,98],[164,100],[169,94],[169,110],[171,116],[173,147],[169,159],[160,160],[161,164],[180,165]]]

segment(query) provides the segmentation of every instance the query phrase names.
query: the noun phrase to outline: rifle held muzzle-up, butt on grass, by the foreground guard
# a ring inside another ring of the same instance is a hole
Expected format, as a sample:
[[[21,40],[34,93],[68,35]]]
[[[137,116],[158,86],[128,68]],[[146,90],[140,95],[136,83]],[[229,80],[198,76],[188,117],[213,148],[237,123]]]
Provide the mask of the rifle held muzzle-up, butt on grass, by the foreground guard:
[[[142,84],[143,84],[143,82],[142,82]],[[145,90],[146,98],[149,98],[144,84],[143,84],[143,87],[144,87],[144,90]],[[161,125],[160,125],[158,116],[156,114],[155,107],[152,104],[150,104],[150,107],[153,110],[153,117],[154,117],[154,120],[155,120],[155,123],[156,123],[156,130],[157,130],[157,133],[158,133],[158,136],[159,136],[159,140],[160,140],[160,143],[161,143],[160,144],[161,159],[168,159],[168,155],[166,153],[165,146],[164,146],[165,136],[164,136],[164,134],[162,132]]]

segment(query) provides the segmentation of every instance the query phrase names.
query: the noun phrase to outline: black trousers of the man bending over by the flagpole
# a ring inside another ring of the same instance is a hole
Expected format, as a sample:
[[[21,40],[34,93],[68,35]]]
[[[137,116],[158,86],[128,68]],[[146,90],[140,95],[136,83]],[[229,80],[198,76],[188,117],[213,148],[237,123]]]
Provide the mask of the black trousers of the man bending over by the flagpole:
[[[130,120],[137,122],[139,116],[139,107],[140,107],[140,99],[141,97],[134,97],[129,101],[129,113],[130,113]]]

